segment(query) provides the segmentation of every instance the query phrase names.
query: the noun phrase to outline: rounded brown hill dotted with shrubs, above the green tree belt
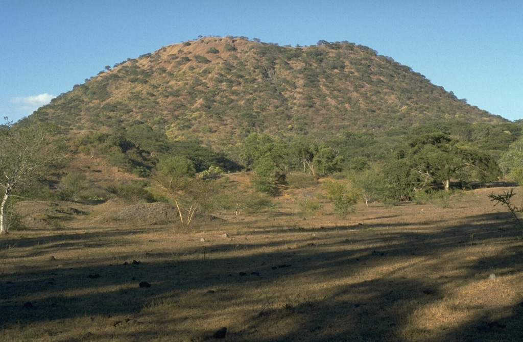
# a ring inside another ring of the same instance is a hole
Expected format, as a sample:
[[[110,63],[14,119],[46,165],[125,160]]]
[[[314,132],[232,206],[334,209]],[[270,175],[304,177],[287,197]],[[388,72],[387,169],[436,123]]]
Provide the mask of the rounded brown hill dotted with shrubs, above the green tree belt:
[[[138,120],[216,148],[253,132],[331,136],[441,120],[507,122],[361,45],[292,48],[231,37],[168,45],[107,66],[39,113],[75,130]]]

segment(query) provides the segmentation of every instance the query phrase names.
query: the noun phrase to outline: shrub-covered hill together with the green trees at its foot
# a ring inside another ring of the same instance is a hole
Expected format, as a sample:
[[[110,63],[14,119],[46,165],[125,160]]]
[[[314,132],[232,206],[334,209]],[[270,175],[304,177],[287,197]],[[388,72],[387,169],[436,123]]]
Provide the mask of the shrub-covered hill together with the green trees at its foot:
[[[71,162],[40,176],[42,199],[170,201],[188,226],[201,209],[260,208],[319,181],[303,211],[323,198],[343,217],[360,200],[523,179],[520,123],[354,43],[203,37],[105,69],[3,126],[5,139],[42,121],[66,133]],[[127,176],[94,181],[101,167]],[[232,187],[223,176],[240,170],[249,182]]]

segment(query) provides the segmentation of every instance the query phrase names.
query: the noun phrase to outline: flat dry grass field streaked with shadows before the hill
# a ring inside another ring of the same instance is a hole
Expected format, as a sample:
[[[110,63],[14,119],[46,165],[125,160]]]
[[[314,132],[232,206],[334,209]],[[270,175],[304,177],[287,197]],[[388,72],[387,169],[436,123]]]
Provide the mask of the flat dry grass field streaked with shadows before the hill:
[[[190,231],[141,220],[168,217],[157,203],[19,202],[28,229],[0,236],[0,340],[520,341],[522,232],[487,197],[503,190],[346,219],[280,199]]]

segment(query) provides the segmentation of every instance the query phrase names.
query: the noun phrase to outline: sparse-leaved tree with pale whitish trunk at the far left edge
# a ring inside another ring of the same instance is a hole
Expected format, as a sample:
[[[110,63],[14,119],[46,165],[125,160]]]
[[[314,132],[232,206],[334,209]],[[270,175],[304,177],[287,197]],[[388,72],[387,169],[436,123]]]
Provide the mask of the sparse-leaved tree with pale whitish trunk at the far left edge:
[[[58,130],[36,118],[0,126],[0,234],[8,232],[6,204],[13,190],[35,181],[37,174],[64,159]]]

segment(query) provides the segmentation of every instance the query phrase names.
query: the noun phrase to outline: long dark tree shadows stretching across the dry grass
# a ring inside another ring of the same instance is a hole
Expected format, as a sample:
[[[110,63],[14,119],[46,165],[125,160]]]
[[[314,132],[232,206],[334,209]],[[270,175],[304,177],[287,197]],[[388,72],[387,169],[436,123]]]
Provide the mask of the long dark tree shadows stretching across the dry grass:
[[[110,259],[97,256],[98,248],[129,231],[60,233],[18,244],[16,239],[4,240],[15,249],[31,247],[21,258],[84,248],[89,264],[59,258],[38,267],[22,262],[16,272],[1,274],[0,326],[9,330],[19,324],[104,317],[106,325],[116,329],[128,322],[113,317],[145,322],[153,315],[154,323],[144,323],[133,333],[152,339],[160,331],[207,340],[220,326],[196,324],[191,330],[186,322],[225,310],[235,317],[228,323],[232,340],[519,340],[521,293],[511,293],[512,299],[499,305],[481,298],[461,300],[463,304],[458,300],[452,310],[447,306],[454,304],[446,298],[452,289],[466,296],[469,287],[477,295],[476,285],[495,292],[496,281],[519,275],[523,252],[514,240],[521,232],[499,214],[452,223],[441,221],[438,229],[417,231],[401,222],[378,223],[371,227],[376,232],[359,231],[357,225],[291,231],[275,226],[264,234],[291,234],[292,247],[277,238],[267,243],[216,240],[176,253],[152,247],[151,252],[128,251]],[[310,233],[319,232],[326,236],[313,239]],[[452,265],[444,262],[446,255],[467,248],[507,242],[511,245],[503,254],[485,252],[470,260],[453,259]],[[133,256],[139,257],[136,263]],[[489,280],[490,273],[498,279]],[[151,286],[140,287],[144,281]],[[431,318],[431,307],[447,315],[458,311],[464,318],[436,327],[419,323],[417,316]],[[162,314],[166,309],[176,314]],[[108,337],[103,334],[98,340]],[[124,340],[126,334],[120,329],[112,336]]]

